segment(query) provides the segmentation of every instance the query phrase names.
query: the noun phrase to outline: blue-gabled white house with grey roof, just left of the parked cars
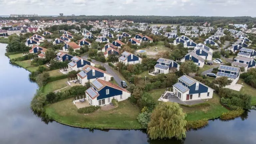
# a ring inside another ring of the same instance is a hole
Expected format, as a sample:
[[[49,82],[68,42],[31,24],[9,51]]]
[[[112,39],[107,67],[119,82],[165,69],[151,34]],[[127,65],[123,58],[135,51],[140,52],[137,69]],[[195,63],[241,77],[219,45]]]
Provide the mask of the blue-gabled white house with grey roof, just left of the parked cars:
[[[204,66],[204,58],[202,58],[201,56],[199,56],[199,55],[197,55],[196,53],[194,53],[194,52],[190,52],[190,53],[187,53],[186,55],[185,55],[185,57],[183,57],[182,59],[181,59],[181,62],[185,62],[185,61],[187,61],[187,60],[191,60],[191,61],[193,61],[197,66],[199,66],[199,67],[203,67]]]

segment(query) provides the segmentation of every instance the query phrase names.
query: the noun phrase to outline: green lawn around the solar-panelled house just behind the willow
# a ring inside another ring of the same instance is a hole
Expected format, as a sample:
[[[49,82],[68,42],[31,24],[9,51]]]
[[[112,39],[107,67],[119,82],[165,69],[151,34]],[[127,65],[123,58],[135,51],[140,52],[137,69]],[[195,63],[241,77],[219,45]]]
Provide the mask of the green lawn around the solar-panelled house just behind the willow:
[[[165,91],[165,88],[152,90],[149,93],[153,97],[154,101],[158,104],[158,103],[161,103],[161,101],[158,101],[158,99],[164,93],[164,91]],[[226,109],[220,104],[220,98],[216,93],[214,93],[213,98],[206,101],[206,103],[209,103],[210,106],[191,107],[191,108],[181,106],[183,111],[187,114],[186,120],[194,121],[194,120],[201,120],[201,119],[214,119],[214,118],[218,118],[222,113],[228,111],[228,109]]]

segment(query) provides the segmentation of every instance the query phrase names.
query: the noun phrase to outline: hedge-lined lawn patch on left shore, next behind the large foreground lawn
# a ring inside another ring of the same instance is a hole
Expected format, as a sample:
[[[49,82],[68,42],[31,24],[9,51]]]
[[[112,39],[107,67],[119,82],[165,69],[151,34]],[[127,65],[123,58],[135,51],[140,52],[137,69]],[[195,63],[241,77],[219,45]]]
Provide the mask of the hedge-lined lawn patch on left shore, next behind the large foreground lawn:
[[[61,89],[65,86],[67,86],[66,84],[67,79],[61,79],[61,80],[57,80],[57,81],[53,81],[53,82],[49,82],[44,86],[43,92],[45,94],[49,93],[49,92],[53,92],[55,90]]]

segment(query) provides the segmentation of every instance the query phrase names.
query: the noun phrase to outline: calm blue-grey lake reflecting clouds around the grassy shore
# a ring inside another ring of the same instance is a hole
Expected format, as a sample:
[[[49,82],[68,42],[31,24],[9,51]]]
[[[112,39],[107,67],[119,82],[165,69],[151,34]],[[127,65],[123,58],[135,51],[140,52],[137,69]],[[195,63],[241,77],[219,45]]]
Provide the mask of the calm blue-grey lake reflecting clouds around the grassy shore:
[[[210,120],[209,125],[187,132],[183,141],[149,140],[144,130],[93,130],[57,122],[46,124],[30,109],[38,88],[29,72],[12,65],[0,43],[0,144],[255,144],[256,111],[230,121]]]

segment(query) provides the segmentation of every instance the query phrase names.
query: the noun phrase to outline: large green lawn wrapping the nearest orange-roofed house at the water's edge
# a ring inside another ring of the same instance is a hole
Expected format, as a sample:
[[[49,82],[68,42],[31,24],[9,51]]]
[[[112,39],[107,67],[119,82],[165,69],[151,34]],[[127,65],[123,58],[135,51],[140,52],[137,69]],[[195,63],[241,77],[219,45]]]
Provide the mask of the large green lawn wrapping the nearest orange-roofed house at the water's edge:
[[[90,114],[79,114],[72,98],[51,104],[46,113],[57,122],[82,128],[140,129],[136,117],[140,113],[137,106],[128,100],[119,102],[117,108]]]

